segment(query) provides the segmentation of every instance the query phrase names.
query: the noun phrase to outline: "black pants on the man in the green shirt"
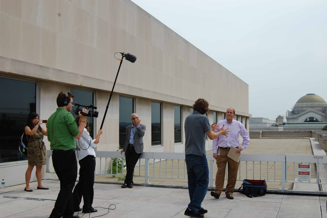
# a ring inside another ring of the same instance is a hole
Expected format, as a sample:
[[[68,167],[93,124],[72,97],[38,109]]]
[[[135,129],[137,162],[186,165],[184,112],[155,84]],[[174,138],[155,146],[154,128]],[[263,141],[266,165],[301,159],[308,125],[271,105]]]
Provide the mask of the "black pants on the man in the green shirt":
[[[75,150],[53,150],[52,164],[60,181],[60,191],[50,218],[68,218],[74,215],[73,188],[77,178]]]

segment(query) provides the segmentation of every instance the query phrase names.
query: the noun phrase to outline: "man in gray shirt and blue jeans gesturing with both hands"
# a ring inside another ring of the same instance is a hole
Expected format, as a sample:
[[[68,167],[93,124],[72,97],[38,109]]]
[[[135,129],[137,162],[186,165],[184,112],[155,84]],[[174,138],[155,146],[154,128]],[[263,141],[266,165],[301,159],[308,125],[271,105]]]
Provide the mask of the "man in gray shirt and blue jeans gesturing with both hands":
[[[209,110],[209,103],[202,98],[195,101],[193,113],[186,117],[185,129],[185,163],[187,168],[188,192],[190,203],[184,215],[190,217],[204,217],[208,210],[201,208],[201,203],[207,193],[209,185],[209,168],[205,156],[205,136],[210,140],[225,135],[229,131],[221,127],[219,132],[215,132],[218,126],[210,126],[209,119],[204,115]]]

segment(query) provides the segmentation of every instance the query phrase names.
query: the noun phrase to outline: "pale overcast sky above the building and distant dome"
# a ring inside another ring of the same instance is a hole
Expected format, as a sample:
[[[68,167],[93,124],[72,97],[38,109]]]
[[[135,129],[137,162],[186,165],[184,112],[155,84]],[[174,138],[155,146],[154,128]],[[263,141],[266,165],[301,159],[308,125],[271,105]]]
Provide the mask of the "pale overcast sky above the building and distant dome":
[[[327,101],[326,0],[132,1],[249,84],[252,117]]]

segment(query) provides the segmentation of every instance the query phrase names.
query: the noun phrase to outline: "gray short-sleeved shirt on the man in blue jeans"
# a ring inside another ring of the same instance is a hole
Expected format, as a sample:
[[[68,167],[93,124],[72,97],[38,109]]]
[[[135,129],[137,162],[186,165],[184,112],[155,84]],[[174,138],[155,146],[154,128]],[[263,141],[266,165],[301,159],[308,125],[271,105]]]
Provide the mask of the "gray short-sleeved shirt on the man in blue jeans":
[[[211,130],[209,119],[197,110],[185,119],[185,154],[205,155],[205,134]]]

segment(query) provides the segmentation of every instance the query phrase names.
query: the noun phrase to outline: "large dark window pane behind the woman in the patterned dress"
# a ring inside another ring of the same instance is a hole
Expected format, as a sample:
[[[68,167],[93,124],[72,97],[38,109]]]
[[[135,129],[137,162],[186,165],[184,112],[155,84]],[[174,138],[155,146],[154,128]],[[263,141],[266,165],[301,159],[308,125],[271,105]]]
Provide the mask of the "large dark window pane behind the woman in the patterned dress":
[[[28,114],[36,112],[36,83],[0,77],[0,105],[0,163],[27,160],[18,145]]]

